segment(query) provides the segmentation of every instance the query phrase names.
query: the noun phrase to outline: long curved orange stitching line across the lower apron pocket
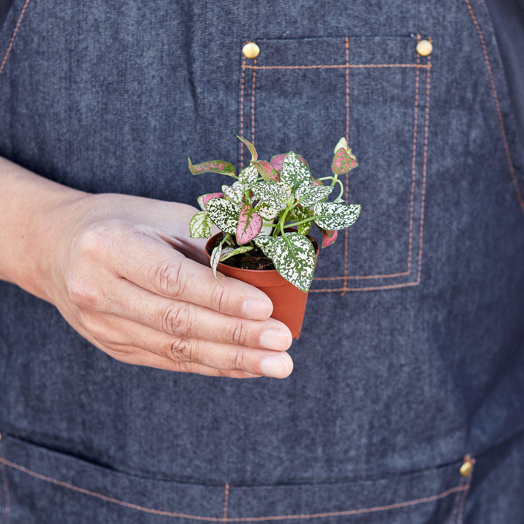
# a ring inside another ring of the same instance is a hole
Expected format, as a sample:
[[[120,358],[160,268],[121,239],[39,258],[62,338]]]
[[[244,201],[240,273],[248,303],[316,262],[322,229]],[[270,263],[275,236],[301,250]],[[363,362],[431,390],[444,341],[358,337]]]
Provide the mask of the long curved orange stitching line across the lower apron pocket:
[[[3,464],[9,467],[15,468],[15,470],[31,475],[32,477],[38,478],[42,481],[49,482],[51,484],[55,484],[57,486],[65,487],[68,489],[72,489],[73,491],[83,493],[84,495],[90,495],[92,497],[100,498],[107,502],[118,504],[119,506],[125,506],[127,508],[137,509],[139,511],[144,511],[146,513],[152,513],[155,515],[163,515],[166,517],[179,517],[179,518],[187,518],[187,519],[192,519],[192,520],[205,520],[205,521],[211,521],[211,522],[224,522],[224,521],[248,522],[248,521],[259,521],[259,520],[311,519],[311,518],[323,518],[323,517],[338,517],[338,516],[343,516],[343,515],[360,515],[363,513],[372,513],[375,511],[386,511],[389,509],[405,508],[405,507],[414,506],[417,504],[428,503],[434,500],[438,500],[438,499],[447,497],[451,495],[452,493],[460,492],[460,491],[467,489],[464,486],[455,486],[453,488],[447,489],[445,492],[438,493],[436,495],[431,495],[430,497],[423,497],[423,498],[418,498],[418,499],[413,499],[413,500],[407,500],[405,502],[389,504],[387,506],[375,506],[372,508],[350,509],[350,510],[345,510],[345,511],[331,511],[331,512],[326,512],[326,513],[313,513],[313,514],[303,514],[303,515],[272,515],[268,517],[236,517],[236,518],[221,517],[221,518],[218,518],[218,517],[202,517],[198,515],[187,515],[183,513],[173,513],[171,511],[163,511],[159,509],[145,508],[144,506],[138,506],[136,504],[124,502],[123,500],[118,500],[113,497],[107,497],[106,495],[92,492],[89,489],[80,488],[78,486],[74,486],[73,484],[69,484],[67,482],[58,481],[56,478],[51,478],[46,475],[41,475],[40,473],[36,473],[35,471],[29,470],[29,468],[27,467],[21,466],[14,462],[10,462],[6,459],[3,459],[2,457],[0,457],[0,462],[2,462]]]

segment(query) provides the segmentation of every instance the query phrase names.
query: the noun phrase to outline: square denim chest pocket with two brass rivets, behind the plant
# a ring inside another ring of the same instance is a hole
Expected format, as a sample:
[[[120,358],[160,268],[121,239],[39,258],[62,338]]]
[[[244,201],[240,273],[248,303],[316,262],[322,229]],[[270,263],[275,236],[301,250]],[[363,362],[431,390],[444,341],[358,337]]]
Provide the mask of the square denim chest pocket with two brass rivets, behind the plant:
[[[342,180],[361,215],[319,255],[312,291],[420,282],[430,62],[418,38],[255,38],[258,57],[242,57],[239,134],[261,158],[291,149],[320,178],[345,136],[359,162]],[[249,158],[240,144],[239,165]]]

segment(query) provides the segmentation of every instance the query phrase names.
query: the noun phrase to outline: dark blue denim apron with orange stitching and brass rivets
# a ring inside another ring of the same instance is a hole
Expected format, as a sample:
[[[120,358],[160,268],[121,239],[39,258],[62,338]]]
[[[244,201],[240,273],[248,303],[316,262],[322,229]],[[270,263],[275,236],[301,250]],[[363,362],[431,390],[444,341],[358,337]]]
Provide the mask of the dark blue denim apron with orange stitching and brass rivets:
[[[1,524],[522,522],[524,159],[483,0],[15,0],[0,58],[0,154],[41,176],[194,204],[222,179],[187,157],[246,165],[236,134],[315,176],[346,136],[362,204],[285,380],[116,362],[2,283]]]

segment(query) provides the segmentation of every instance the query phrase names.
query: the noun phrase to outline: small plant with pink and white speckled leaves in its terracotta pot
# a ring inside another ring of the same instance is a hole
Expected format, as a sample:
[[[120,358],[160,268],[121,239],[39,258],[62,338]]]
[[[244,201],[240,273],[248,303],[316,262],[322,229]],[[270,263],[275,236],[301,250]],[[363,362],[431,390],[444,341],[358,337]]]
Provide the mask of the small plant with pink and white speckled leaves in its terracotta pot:
[[[193,174],[217,172],[234,179],[221,192],[199,196],[201,211],[191,219],[190,234],[211,237],[206,252],[216,278],[219,270],[264,291],[274,306],[272,316],[298,339],[319,252],[308,232],[312,224],[319,227],[324,248],[335,242],[338,230],[356,222],[361,206],[344,203],[338,176],[358,163],[341,138],[334,150],[333,176],[315,179],[293,151],[267,162],[258,159],[252,143],[238,138],[252,156],[238,174],[225,161],[193,165],[188,159]],[[339,194],[329,201],[335,189]],[[212,236],[213,224],[220,233]]]

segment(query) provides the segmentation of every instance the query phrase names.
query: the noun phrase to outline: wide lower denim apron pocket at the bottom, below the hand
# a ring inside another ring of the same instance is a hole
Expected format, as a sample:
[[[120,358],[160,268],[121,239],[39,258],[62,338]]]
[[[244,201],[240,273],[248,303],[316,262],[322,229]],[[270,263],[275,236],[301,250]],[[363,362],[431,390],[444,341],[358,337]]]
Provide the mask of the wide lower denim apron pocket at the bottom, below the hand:
[[[206,485],[115,471],[5,434],[1,444],[0,516],[13,523],[460,524],[471,479],[456,462],[363,481]]]

